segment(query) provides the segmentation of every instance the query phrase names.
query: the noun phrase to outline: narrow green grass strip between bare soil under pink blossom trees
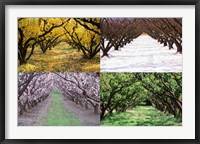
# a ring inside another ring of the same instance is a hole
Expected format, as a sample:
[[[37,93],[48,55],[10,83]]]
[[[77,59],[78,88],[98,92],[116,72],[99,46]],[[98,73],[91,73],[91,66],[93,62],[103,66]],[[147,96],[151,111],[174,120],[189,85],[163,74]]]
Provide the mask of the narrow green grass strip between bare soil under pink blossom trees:
[[[80,121],[75,114],[67,111],[62,97],[59,93],[54,92],[52,95],[52,102],[46,117],[42,120],[43,125],[46,126],[79,126]]]

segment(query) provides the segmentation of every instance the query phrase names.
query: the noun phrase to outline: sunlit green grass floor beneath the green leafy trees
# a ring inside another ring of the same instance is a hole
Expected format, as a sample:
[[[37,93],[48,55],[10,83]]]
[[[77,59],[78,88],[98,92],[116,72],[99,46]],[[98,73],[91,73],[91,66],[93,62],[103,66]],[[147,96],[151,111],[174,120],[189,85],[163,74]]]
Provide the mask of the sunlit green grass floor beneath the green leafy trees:
[[[132,110],[114,113],[101,121],[103,126],[180,126],[181,120],[158,111],[152,106],[137,106]]]

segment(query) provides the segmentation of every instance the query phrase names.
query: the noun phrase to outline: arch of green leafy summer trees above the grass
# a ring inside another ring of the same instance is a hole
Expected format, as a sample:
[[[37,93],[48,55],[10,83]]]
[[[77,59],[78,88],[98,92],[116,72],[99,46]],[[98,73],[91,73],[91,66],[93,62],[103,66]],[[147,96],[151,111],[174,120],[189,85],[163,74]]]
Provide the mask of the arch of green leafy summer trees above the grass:
[[[138,105],[182,116],[181,73],[101,73],[101,120]]]

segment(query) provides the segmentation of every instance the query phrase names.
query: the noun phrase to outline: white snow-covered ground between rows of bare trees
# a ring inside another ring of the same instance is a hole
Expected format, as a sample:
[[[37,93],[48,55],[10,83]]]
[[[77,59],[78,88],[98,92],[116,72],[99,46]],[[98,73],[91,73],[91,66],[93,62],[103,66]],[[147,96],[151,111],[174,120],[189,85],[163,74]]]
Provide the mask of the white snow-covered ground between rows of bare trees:
[[[148,35],[101,58],[101,72],[182,72],[182,54],[169,50]]]

